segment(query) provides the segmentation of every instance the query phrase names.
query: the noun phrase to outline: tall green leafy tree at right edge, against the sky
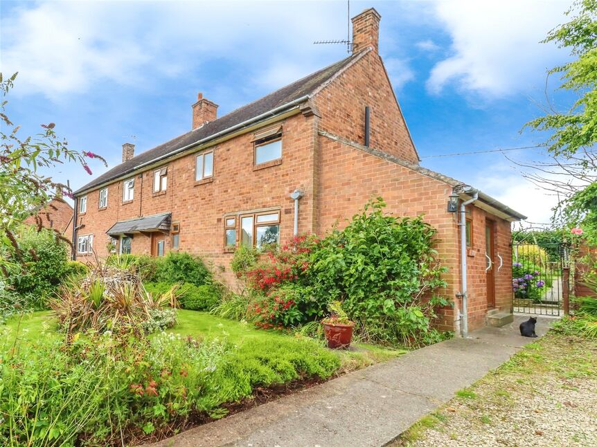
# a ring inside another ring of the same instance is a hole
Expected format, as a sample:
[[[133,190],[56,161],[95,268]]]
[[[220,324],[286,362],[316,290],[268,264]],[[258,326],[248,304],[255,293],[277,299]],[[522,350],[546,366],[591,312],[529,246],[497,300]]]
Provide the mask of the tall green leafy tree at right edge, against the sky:
[[[528,178],[560,197],[556,221],[582,226],[597,243],[597,0],[578,0],[566,12],[571,20],[549,32],[543,43],[568,48],[572,60],[551,69],[560,75],[560,89],[578,98],[565,111],[548,101],[544,116],[525,127],[550,133],[546,148],[552,161],[526,165]]]

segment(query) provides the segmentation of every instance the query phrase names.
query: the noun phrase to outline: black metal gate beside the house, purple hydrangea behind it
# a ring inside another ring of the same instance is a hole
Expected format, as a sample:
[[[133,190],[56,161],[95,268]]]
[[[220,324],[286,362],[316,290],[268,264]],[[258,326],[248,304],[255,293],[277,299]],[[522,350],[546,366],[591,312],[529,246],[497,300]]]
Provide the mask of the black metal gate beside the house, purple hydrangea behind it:
[[[569,291],[568,250],[564,244],[513,244],[513,311],[563,316]]]

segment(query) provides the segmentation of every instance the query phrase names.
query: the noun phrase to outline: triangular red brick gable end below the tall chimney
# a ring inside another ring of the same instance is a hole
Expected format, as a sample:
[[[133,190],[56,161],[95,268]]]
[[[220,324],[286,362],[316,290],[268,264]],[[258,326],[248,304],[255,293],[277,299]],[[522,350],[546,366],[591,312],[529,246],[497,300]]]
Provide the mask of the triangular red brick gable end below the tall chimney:
[[[360,144],[364,144],[368,106],[370,147],[418,163],[416,149],[377,53],[366,53],[317,93],[314,103],[321,115],[321,129]]]

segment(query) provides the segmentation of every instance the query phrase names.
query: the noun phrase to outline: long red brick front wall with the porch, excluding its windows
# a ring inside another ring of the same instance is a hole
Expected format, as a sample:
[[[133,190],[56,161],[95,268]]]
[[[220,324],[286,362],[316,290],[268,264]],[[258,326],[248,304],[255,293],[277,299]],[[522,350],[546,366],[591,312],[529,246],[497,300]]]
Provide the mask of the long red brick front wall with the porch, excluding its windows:
[[[143,172],[142,187],[141,178],[136,176],[132,203],[122,203],[122,182],[109,185],[105,210],[98,210],[99,190],[89,192],[87,212],[78,219],[84,227],[78,234],[93,234],[93,248],[105,257],[109,240],[105,232],[116,221],[172,212],[172,221],[180,223],[179,249],[202,255],[214,268],[224,268],[227,276],[232,255],[224,250],[226,213],[278,207],[280,240],[289,239],[294,225],[294,201],[289,194],[299,188],[305,192],[299,207],[299,231],[312,230],[314,122],[314,117],[302,115],[283,122],[283,158],[279,165],[253,170],[251,133],[213,148],[213,181],[195,183],[196,154],[190,154],[168,163],[166,194],[152,193],[154,169]],[[166,248],[170,248],[169,238]],[[132,253],[149,254],[150,250],[150,237],[134,235]]]

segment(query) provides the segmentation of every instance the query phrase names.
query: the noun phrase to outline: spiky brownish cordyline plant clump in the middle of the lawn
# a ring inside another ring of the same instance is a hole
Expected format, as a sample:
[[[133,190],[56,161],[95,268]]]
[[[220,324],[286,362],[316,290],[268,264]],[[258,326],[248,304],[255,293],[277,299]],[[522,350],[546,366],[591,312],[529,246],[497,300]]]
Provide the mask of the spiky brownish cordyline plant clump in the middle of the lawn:
[[[150,320],[150,310],[177,307],[179,286],[161,295],[145,290],[132,266],[107,266],[96,260],[82,280],[64,284],[51,302],[60,326],[67,332],[127,331]]]

